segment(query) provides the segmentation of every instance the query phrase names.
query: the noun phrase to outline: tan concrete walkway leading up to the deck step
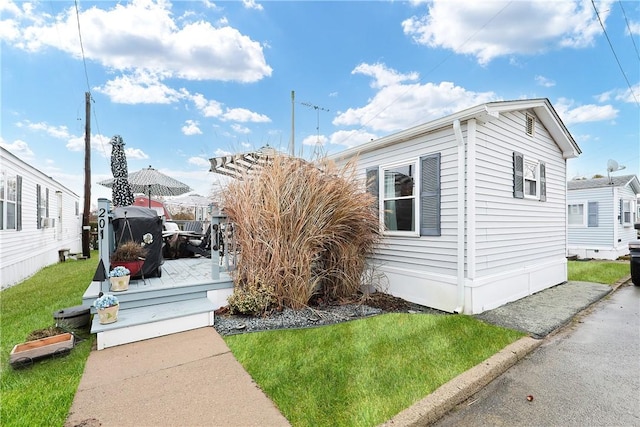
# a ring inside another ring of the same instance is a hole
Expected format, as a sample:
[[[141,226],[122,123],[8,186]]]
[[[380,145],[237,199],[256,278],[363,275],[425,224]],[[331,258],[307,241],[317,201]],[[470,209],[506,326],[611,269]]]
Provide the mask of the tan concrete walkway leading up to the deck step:
[[[65,426],[288,426],[213,328],[92,351]]]

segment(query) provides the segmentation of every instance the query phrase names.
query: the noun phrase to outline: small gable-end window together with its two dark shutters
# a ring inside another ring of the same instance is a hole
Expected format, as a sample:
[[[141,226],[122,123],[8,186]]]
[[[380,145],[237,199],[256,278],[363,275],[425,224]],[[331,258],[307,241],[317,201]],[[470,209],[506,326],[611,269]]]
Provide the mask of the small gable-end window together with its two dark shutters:
[[[513,197],[516,199],[547,200],[546,165],[513,153]]]

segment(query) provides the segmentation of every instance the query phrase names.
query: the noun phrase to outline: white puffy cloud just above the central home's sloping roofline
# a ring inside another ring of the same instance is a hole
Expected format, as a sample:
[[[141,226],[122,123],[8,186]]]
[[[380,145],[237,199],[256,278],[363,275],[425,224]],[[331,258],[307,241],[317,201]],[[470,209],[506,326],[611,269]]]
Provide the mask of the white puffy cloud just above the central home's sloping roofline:
[[[392,132],[497,98],[493,92],[472,92],[452,82],[402,84],[418,76],[398,74],[383,64],[366,67],[361,64],[355,71],[361,70],[374,77],[371,86],[380,90],[364,107],[339,112],[332,122],[335,126]]]

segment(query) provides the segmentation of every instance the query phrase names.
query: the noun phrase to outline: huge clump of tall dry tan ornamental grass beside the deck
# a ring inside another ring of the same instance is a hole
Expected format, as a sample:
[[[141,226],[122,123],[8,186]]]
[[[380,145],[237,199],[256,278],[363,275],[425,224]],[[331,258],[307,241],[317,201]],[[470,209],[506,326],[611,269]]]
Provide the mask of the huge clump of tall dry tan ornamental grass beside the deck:
[[[256,292],[270,298],[247,314],[357,295],[380,241],[375,201],[364,188],[354,163],[317,167],[284,155],[229,184],[224,210],[242,248],[231,309],[241,311]]]

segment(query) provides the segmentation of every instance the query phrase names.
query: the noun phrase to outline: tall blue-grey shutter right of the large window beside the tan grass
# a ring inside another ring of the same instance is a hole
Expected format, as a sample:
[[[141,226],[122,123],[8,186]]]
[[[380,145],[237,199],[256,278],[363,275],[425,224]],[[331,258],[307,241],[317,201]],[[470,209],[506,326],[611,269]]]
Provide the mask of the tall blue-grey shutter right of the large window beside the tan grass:
[[[420,158],[420,235],[440,236],[440,153]]]

